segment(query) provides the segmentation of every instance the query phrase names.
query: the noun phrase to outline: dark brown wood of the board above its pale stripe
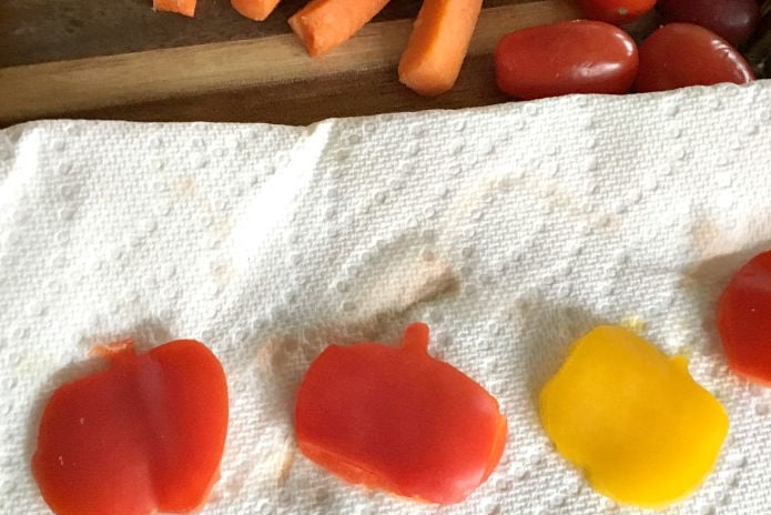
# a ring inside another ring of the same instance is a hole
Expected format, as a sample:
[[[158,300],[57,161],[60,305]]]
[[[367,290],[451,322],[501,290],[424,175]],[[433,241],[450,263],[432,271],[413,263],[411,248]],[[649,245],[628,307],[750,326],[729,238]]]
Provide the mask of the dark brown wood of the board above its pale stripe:
[[[265,21],[230,0],[199,0],[195,18],[155,12],[152,0],[0,1],[0,67],[240,41],[290,32],[286,19],[307,0],[282,0]],[[523,1],[523,0],[519,0]],[[375,21],[413,18],[419,0],[393,0]],[[517,1],[488,0],[488,7]]]

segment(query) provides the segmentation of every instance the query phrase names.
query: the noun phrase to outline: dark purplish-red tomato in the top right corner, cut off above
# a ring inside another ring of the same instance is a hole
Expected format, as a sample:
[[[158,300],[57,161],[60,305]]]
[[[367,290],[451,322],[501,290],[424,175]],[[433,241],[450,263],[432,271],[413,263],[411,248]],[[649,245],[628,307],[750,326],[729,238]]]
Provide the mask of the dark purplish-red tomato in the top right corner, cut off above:
[[[760,22],[755,0],[659,0],[657,8],[665,22],[696,23],[734,47],[747,41]]]

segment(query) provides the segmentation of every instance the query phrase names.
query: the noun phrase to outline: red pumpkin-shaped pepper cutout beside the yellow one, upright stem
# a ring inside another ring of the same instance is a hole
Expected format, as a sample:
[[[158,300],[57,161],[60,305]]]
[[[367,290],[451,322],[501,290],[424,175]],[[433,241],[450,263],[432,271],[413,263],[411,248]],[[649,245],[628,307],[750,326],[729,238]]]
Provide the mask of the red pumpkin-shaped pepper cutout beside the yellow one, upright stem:
[[[400,346],[331,345],[297,393],[302,452],[337,476],[405,497],[452,504],[498,464],[507,436],[497,401],[427,354],[428,326]]]

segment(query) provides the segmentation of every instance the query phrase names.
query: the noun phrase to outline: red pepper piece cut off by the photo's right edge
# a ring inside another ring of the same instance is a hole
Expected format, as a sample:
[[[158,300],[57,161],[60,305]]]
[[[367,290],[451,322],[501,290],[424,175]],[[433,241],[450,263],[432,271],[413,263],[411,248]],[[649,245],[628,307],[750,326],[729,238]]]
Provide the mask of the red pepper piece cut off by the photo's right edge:
[[[752,258],[726,286],[718,331],[731,370],[771,386],[771,251]]]

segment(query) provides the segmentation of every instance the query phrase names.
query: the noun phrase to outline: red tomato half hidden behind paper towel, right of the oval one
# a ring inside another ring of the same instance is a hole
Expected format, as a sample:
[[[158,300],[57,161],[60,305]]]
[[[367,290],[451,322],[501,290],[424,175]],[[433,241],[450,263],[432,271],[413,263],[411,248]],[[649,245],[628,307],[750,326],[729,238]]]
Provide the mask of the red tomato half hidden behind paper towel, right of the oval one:
[[[743,84],[752,68],[724,39],[692,23],[669,23],[640,46],[639,92],[666,91],[720,82]]]

